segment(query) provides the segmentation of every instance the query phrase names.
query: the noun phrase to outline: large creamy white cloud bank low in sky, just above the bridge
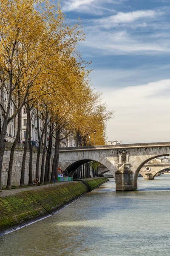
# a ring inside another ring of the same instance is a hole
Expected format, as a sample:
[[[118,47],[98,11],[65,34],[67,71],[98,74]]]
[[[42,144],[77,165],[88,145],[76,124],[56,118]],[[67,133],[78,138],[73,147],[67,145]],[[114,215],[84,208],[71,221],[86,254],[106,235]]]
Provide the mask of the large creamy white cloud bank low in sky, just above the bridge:
[[[116,111],[115,118],[108,123],[108,140],[116,138],[123,143],[168,141],[169,96],[170,79],[107,89],[103,98],[108,108]]]

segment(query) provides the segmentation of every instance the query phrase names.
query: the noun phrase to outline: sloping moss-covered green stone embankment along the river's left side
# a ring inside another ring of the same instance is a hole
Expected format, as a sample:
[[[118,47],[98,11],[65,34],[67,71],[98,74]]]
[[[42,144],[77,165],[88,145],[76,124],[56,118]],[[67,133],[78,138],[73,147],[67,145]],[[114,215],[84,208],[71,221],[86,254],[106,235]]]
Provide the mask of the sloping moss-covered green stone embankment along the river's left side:
[[[105,177],[97,177],[57,183],[55,186],[51,184],[52,186],[24,188],[26,190],[23,192],[1,196],[0,236],[11,227],[23,227],[34,220],[53,215],[57,210],[107,181]]]

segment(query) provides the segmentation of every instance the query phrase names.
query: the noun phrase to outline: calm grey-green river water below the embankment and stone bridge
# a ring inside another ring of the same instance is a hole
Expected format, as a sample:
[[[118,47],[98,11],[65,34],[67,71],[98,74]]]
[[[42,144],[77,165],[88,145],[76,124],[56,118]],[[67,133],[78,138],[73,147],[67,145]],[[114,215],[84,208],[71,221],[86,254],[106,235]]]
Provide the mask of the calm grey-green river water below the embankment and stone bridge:
[[[0,237],[2,256],[169,256],[170,175],[115,192],[111,179],[57,214]]]

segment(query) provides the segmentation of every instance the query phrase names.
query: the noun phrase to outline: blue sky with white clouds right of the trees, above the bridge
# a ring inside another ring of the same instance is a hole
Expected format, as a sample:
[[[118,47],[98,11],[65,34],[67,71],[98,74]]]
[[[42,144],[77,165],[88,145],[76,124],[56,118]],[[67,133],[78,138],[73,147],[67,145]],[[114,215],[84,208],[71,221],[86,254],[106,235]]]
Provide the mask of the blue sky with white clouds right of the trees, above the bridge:
[[[108,140],[170,141],[170,0],[62,0],[86,34],[93,87],[108,110]],[[97,128],[96,128],[97,131]]]

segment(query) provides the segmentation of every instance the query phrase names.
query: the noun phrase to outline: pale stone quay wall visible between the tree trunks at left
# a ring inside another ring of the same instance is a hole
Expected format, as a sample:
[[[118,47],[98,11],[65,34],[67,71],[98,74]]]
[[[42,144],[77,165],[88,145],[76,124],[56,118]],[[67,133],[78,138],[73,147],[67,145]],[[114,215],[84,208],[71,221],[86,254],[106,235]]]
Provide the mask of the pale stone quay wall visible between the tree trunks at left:
[[[13,143],[5,143],[5,152],[3,156],[3,169],[2,169],[2,186],[3,187],[6,187],[6,183],[7,183],[8,166],[9,166],[12,144]],[[23,150],[24,150],[24,144],[18,143],[14,152],[12,186],[20,185],[21,166],[23,161]],[[35,177],[36,161],[37,161],[37,147],[33,146],[33,161],[32,161],[33,177]],[[42,162],[42,150],[40,154],[39,177],[41,173],[41,162]],[[26,154],[25,185],[28,185],[28,178],[29,178],[29,148],[27,149],[27,154]]]

